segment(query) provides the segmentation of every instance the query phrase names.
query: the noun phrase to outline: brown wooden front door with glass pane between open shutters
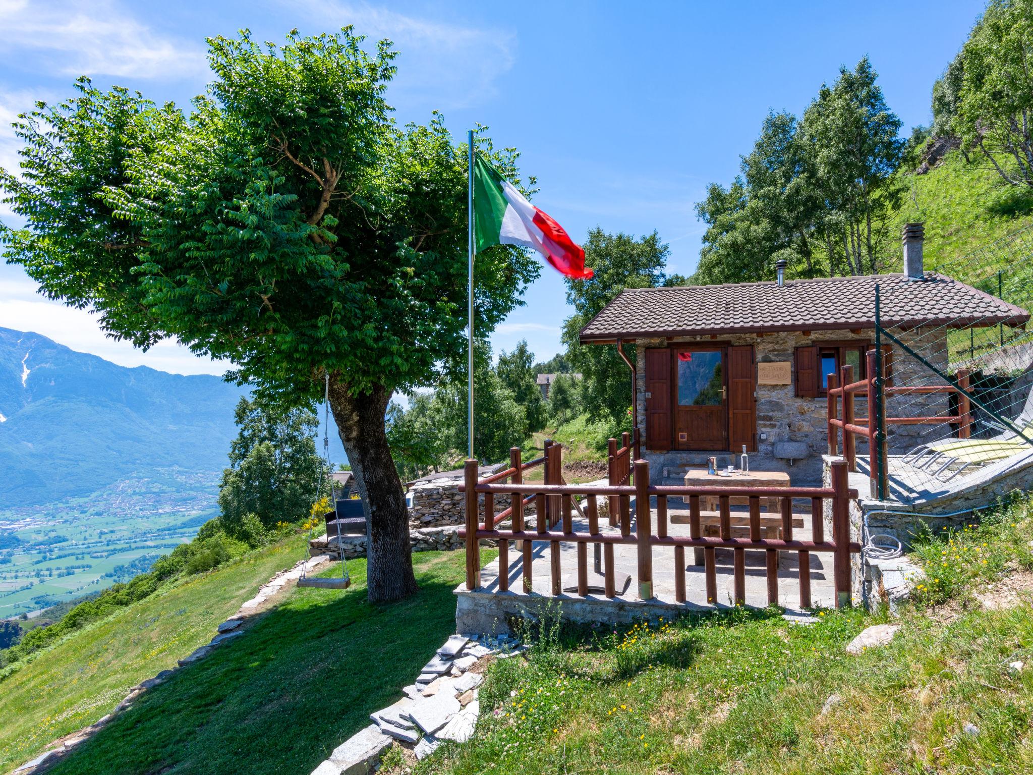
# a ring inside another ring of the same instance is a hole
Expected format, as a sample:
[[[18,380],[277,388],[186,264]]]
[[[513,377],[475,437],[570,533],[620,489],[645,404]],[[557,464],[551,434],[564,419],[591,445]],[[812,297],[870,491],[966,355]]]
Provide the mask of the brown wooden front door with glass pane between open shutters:
[[[675,374],[675,448],[728,450],[726,350],[671,348]]]

